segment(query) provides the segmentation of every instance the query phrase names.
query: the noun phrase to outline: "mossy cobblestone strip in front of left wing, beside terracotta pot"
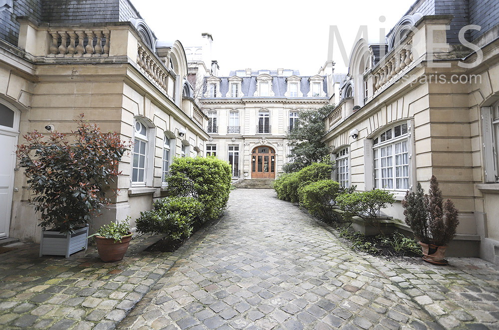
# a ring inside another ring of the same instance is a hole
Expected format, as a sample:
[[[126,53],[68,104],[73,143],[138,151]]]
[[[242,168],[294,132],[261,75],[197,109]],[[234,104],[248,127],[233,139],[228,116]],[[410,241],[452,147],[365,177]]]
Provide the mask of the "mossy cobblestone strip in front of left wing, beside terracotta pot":
[[[125,258],[112,263],[101,262],[95,248],[39,258],[38,244],[13,244],[0,254],[0,329],[114,329],[189,247],[143,251],[160,238],[132,240]]]

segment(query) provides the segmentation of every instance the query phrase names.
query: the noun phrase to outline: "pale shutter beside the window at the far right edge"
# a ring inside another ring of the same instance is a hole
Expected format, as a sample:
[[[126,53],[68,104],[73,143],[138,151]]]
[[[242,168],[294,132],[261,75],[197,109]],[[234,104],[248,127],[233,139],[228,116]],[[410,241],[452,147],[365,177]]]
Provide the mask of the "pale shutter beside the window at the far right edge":
[[[484,138],[484,167],[485,182],[496,182],[496,148],[494,146],[494,132],[492,126],[492,108],[482,108],[482,130]]]

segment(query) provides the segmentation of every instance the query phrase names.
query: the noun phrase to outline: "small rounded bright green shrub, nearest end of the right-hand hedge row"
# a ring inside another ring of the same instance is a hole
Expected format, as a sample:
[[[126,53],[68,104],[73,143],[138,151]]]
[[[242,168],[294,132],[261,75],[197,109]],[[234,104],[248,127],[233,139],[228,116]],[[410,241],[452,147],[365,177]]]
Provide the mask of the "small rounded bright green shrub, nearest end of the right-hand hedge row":
[[[300,204],[305,206],[311,215],[331,222],[336,218],[332,206],[339,189],[340,184],[333,180],[309,183],[299,189]]]

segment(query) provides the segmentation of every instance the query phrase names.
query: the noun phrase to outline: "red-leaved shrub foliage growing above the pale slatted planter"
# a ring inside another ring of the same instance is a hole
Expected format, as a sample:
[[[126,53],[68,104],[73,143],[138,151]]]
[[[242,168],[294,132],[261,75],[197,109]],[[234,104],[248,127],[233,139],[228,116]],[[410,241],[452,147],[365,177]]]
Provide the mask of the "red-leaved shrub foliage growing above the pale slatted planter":
[[[26,144],[17,146],[19,166],[24,167],[29,198],[40,212],[39,226],[72,233],[100,215],[118,189],[111,183],[120,175],[118,165],[131,142],[120,140],[116,132],[102,133],[95,124],[75,120],[71,135],[53,132],[48,141],[33,131],[24,135]],[[67,141],[74,137],[73,143]]]

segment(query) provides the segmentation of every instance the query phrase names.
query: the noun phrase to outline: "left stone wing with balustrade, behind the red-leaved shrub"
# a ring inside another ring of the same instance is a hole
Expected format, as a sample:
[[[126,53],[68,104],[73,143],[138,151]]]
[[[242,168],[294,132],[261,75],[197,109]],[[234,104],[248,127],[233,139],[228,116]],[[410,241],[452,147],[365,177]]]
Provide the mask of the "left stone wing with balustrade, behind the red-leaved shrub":
[[[204,155],[209,138],[182,44],[158,41],[128,0],[2,2],[0,238],[38,241],[41,230],[15,146],[33,130],[70,132],[79,113],[135,143],[119,165],[120,193],[94,222],[130,215],[134,227],[163,195],[173,157]]]

